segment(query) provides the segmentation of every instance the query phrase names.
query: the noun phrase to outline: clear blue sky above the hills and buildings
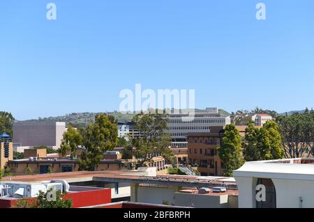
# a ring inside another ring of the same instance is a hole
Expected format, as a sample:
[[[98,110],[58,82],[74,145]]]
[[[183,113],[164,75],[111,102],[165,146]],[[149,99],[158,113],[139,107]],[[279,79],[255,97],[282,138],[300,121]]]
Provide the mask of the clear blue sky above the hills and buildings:
[[[0,110],[118,110],[135,83],[195,89],[199,108],[311,108],[313,11],[313,0],[0,1]]]

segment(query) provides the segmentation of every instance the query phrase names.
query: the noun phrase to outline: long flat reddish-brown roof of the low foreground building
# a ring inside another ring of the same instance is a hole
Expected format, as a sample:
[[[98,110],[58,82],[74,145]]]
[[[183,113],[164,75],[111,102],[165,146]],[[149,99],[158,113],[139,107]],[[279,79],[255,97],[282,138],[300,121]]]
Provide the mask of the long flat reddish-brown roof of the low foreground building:
[[[229,177],[198,177],[180,175],[157,175],[156,177],[145,176],[141,171],[130,170],[104,170],[104,171],[80,171],[80,172],[61,172],[47,175],[24,175],[16,177],[4,177],[0,181],[14,182],[43,182],[52,179],[65,179],[69,183],[75,182],[119,182],[134,184],[154,184],[159,186],[184,186],[184,187],[207,187],[226,186],[228,189],[237,190],[237,184],[228,181]],[[227,179],[227,181],[226,181]]]

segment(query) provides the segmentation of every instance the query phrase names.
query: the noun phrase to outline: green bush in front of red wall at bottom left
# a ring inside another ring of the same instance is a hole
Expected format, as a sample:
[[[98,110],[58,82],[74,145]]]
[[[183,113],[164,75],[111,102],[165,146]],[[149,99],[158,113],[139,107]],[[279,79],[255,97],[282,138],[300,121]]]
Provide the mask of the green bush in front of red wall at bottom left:
[[[38,198],[33,199],[20,199],[15,203],[15,207],[17,208],[46,208],[46,209],[54,209],[54,208],[72,208],[73,201],[71,199],[66,198],[66,194],[62,194],[61,191],[57,191],[56,201],[47,200],[47,195],[50,195],[52,189],[47,191],[47,193],[43,191],[39,191]]]

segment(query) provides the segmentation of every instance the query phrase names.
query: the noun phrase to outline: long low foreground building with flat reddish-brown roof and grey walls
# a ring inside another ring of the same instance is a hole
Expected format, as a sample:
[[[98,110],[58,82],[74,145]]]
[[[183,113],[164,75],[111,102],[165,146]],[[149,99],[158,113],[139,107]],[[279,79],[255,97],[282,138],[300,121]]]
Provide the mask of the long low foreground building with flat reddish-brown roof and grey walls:
[[[2,181],[9,179],[10,182],[38,183],[56,178],[68,182],[70,187],[111,188],[112,202],[202,208],[237,207],[237,184],[233,178],[160,176],[156,174],[155,168],[24,175],[3,178]]]

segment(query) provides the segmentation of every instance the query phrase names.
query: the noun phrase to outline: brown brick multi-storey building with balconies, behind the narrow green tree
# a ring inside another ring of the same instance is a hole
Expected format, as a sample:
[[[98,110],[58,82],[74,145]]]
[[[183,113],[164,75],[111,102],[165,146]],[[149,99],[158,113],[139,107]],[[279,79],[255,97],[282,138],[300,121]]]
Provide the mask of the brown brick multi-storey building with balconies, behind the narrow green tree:
[[[225,126],[211,126],[207,133],[188,134],[188,164],[202,176],[223,175],[222,163],[218,155],[218,147],[223,140]],[[246,126],[236,126],[242,138]]]

